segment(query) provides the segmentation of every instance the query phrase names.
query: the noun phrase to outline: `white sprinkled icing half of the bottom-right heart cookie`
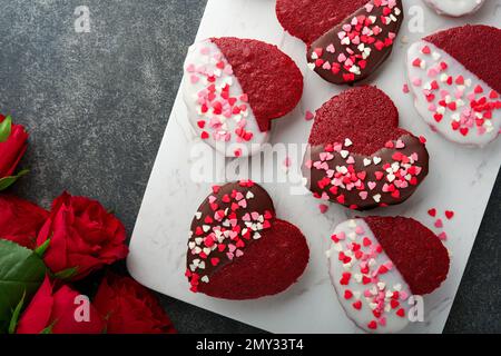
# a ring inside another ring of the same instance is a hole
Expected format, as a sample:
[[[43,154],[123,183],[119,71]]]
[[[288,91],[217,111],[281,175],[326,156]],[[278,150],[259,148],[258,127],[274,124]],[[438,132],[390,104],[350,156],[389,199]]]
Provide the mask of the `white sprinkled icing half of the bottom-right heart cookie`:
[[[397,333],[409,324],[409,285],[363,219],[334,230],[327,251],[331,281],[346,315],[369,333]]]

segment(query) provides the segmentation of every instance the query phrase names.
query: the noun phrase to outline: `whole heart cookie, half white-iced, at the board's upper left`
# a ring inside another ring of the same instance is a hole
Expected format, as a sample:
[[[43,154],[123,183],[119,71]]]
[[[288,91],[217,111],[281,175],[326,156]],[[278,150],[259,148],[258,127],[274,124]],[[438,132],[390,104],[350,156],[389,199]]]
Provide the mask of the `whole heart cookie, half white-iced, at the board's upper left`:
[[[183,95],[200,139],[227,157],[244,157],[261,150],[271,120],[295,108],[303,75],[276,46],[213,38],[190,47]]]

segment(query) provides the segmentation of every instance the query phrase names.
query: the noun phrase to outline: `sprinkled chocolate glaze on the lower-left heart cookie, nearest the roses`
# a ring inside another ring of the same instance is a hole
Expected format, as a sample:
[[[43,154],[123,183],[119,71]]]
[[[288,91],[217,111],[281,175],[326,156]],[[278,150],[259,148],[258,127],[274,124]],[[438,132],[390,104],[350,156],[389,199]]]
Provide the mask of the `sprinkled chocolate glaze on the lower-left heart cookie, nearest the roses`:
[[[199,281],[208,281],[235,257],[243,256],[274,219],[273,201],[258,185],[239,181],[214,186],[191,221],[186,261],[191,290],[196,291]],[[228,226],[223,226],[223,220],[228,220]],[[229,220],[235,224],[229,225]]]

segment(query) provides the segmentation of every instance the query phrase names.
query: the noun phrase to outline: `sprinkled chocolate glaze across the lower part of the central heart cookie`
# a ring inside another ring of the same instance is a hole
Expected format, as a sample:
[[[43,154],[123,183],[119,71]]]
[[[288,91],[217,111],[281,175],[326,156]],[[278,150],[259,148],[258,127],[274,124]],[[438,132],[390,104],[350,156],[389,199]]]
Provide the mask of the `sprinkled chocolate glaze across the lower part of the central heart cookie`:
[[[412,135],[387,141],[371,156],[350,152],[341,144],[310,146],[303,176],[315,197],[365,210],[411,197],[428,175],[429,159],[423,144]]]

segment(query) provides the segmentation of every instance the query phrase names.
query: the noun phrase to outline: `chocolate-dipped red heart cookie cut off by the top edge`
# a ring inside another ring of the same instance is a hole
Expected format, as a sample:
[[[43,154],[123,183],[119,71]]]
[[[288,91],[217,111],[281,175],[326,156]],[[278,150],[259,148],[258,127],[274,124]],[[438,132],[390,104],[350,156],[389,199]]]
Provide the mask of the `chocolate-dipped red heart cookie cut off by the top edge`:
[[[278,21],[306,42],[308,67],[333,83],[369,77],[390,56],[401,0],[277,0]]]

